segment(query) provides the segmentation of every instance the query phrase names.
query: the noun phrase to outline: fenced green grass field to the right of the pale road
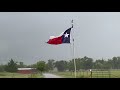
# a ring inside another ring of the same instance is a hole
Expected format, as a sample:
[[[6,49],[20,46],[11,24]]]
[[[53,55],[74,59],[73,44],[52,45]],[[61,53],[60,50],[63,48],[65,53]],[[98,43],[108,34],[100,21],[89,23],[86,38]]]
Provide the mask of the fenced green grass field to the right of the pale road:
[[[74,72],[54,72],[54,74],[65,77],[74,78]],[[110,71],[93,71],[92,76],[90,71],[77,72],[77,78],[120,78],[120,70]]]

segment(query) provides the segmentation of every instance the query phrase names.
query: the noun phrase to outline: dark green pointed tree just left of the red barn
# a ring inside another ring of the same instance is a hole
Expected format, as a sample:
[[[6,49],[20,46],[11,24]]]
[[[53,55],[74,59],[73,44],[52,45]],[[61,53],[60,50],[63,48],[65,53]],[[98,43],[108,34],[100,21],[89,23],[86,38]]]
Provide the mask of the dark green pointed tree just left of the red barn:
[[[5,68],[8,72],[16,72],[17,71],[17,62],[15,62],[13,59],[11,59]]]

